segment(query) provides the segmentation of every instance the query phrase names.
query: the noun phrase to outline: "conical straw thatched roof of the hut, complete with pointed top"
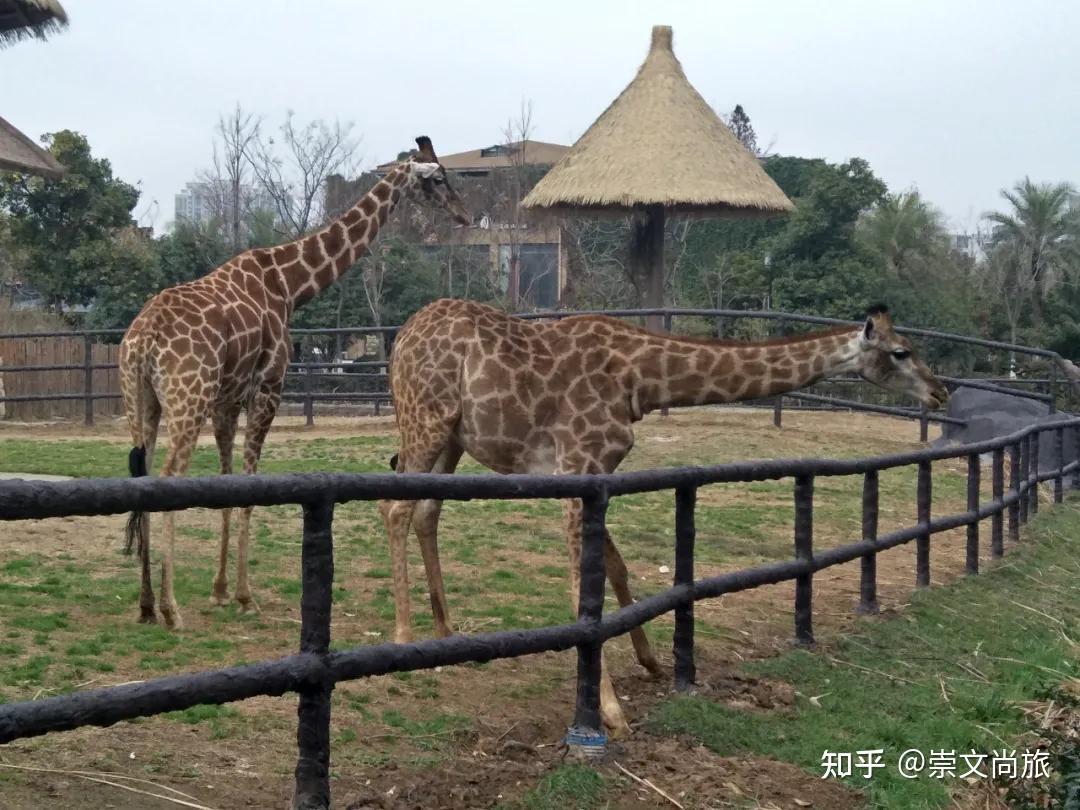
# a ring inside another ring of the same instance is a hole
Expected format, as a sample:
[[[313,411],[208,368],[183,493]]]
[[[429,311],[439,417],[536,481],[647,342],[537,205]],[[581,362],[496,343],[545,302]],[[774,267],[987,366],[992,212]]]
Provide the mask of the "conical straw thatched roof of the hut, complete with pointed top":
[[[778,214],[791,200],[687,81],[656,26],[634,80],[523,201],[532,208]]]

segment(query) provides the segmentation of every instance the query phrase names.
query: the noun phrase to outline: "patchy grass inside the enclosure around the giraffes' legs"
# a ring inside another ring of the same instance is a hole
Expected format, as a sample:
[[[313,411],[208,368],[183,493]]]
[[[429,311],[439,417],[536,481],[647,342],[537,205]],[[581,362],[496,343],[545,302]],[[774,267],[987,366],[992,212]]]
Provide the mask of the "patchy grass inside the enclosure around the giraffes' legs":
[[[802,444],[792,449],[789,444],[797,432],[787,428],[783,437],[762,434],[744,436],[746,441],[734,443],[727,433],[718,433],[715,440],[672,444],[649,442],[647,432],[645,435],[627,459],[626,469],[718,463],[747,456],[808,455],[806,448],[815,441],[812,434],[804,432],[798,438]],[[913,428],[913,442],[914,438]],[[157,454],[159,463],[163,446],[164,440]],[[333,438],[272,434],[260,472],[386,472],[387,459],[396,451],[396,437],[389,434]],[[880,451],[903,446],[887,444]],[[782,453],[778,453],[778,447]],[[878,448],[876,437],[873,444],[868,440],[862,444],[848,443],[839,451],[829,449],[827,455],[867,455],[874,451],[870,447]],[[0,470],[77,477],[124,476],[126,457],[126,442],[122,440],[42,442],[3,437],[0,441]],[[208,475],[217,469],[215,448],[199,447],[190,474]],[[461,471],[482,472],[468,461]],[[895,510],[894,514],[903,512],[897,519],[914,518],[914,509],[907,509],[914,491],[914,470],[882,474],[883,529],[890,505],[904,508]],[[935,467],[934,498],[937,514],[944,513],[937,509],[939,499],[951,499],[953,508],[962,509],[963,476]],[[820,542],[832,544],[858,538],[860,503],[858,476],[819,481],[815,529],[827,537],[827,541]],[[789,481],[705,487],[699,494],[699,504],[698,563],[703,576],[723,567],[744,567],[791,556]],[[440,545],[450,615],[458,629],[492,631],[572,620],[562,512],[557,501],[445,504]],[[670,573],[661,575],[658,568],[673,564],[673,495],[656,492],[618,498],[612,501],[608,516],[611,534],[633,569],[635,595],[667,586]],[[160,523],[157,525],[160,527]],[[249,564],[254,595],[264,606],[261,616],[242,613],[232,605],[225,609],[208,605],[217,564],[217,515],[192,510],[178,515],[176,526],[177,545],[183,546],[183,554],[178,555],[175,590],[188,620],[188,629],[180,635],[163,626],[134,622],[138,570],[132,558],[113,553],[120,542],[119,529],[112,539],[89,538],[91,543],[99,544],[94,552],[97,556],[93,568],[87,568],[86,546],[45,552],[23,544],[15,532],[10,532],[8,545],[0,549],[0,654],[5,657],[0,672],[0,699],[28,700],[42,692],[62,693],[89,681],[105,685],[294,652],[298,629],[294,622],[282,619],[298,616],[295,611],[300,594],[299,508],[259,508],[254,512]],[[339,504],[334,529],[337,570],[334,648],[391,639],[394,621],[391,566],[378,511],[366,502]],[[33,549],[33,553],[28,549]],[[108,553],[102,549],[108,549]],[[154,554],[160,551],[161,544],[157,543]],[[414,625],[417,637],[422,638],[430,636],[432,620],[427,584],[422,575],[416,576],[419,555],[414,542],[409,543],[409,554],[414,566],[410,583]],[[230,564],[230,590],[233,570]],[[157,583],[156,570],[156,586]],[[723,616],[710,621],[721,622]],[[699,619],[699,625],[704,635],[707,623]],[[670,645],[670,620],[651,623],[647,633],[654,642]],[[111,672],[108,667],[114,667],[113,675],[103,675]],[[335,757],[365,768],[388,761],[422,768],[462,756],[462,751],[468,756],[470,741],[475,735],[473,719],[442,712],[442,701],[453,701],[461,673],[474,678],[477,674],[483,676],[486,667],[486,664],[448,667],[443,673],[340,685],[335,691],[335,739],[339,743]],[[513,680],[503,681],[494,675],[489,679],[491,693],[500,702],[543,700],[561,683],[551,676],[551,670],[538,670],[530,677]],[[994,705],[988,705],[985,711],[994,710]],[[272,734],[274,739],[287,740],[295,733],[295,713],[256,715],[228,706],[199,706],[147,723],[168,724],[173,732],[175,724],[191,725],[203,734],[201,739],[208,734],[211,739],[237,737],[257,741],[262,739],[260,735]],[[368,742],[369,739],[374,742]],[[291,750],[288,755],[294,753]],[[511,807],[603,807],[616,789],[615,781],[605,783],[588,768],[559,768]]]

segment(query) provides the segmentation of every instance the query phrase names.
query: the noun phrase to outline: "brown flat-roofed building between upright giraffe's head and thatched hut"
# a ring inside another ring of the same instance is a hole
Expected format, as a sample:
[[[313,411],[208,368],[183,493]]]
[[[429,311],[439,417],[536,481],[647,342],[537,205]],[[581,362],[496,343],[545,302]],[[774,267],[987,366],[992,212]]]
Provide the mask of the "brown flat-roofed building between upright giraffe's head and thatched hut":
[[[568,147],[541,140],[494,144],[465,152],[440,156],[440,162],[456,179],[476,216],[470,228],[456,227],[448,233],[419,234],[422,249],[437,253],[454,246],[472,261],[486,262],[498,288],[515,307],[555,309],[567,286],[568,257],[563,228],[550,218],[524,211],[519,203]],[[397,164],[376,166],[382,176]],[[341,211],[359,197],[355,184],[337,184],[336,207]],[[327,198],[332,190],[327,189]],[[341,194],[353,199],[348,202]]]

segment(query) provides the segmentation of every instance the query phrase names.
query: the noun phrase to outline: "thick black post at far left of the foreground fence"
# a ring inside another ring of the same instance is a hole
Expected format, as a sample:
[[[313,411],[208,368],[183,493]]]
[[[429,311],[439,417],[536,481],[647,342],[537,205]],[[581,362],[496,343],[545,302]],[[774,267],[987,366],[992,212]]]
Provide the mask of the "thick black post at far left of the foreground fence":
[[[300,652],[326,656],[330,647],[330,605],[334,593],[334,503],[303,504],[300,551]],[[330,692],[329,671],[300,690],[296,742],[296,792],[293,810],[329,810]]]

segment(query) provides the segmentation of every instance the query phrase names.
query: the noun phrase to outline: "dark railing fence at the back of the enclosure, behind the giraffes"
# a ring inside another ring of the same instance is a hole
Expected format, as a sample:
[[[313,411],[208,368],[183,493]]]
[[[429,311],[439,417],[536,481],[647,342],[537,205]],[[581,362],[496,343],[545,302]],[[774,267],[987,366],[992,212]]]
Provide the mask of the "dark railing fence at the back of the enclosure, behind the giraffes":
[[[526,319],[562,319],[576,314],[607,314],[616,318],[644,319],[648,315],[661,315],[663,318],[664,329],[672,332],[675,326],[675,319],[697,319],[713,323],[733,324],[740,321],[765,321],[774,330],[783,330],[792,324],[809,325],[847,325],[855,324],[854,321],[841,321],[831,318],[819,318],[815,315],[804,315],[792,312],[756,311],[756,310],[723,310],[723,309],[638,309],[638,310],[610,310],[610,311],[557,311],[557,312],[530,312],[522,313],[521,318]],[[285,379],[285,391],[283,399],[285,402],[300,403],[302,413],[308,424],[314,423],[315,410],[321,403],[368,403],[373,406],[374,413],[378,415],[383,405],[391,403],[390,391],[387,378],[387,362],[384,360],[341,360],[342,348],[350,338],[377,336],[379,341],[388,347],[396,335],[400,326],[356,326],[342,328],[295,328],[292,330],[293,339],[298,348],[295,362],[289,364],[288,374]],[[718,329],[721,327],[717,327]],[[899,327],[897,330],[905,335],[924,338],[931,346],[944,347],[936,352],[942,357],[949,357],[960,351],[975,351],[980,353],[999,352],[1008,355],[1023,355],[1036,364],[1042,363],[1047,376],[1030,379],[1012,379],[991,377],[989,379],[971,379],[966,375],[963,379],[957,377],[945,377],[946,384],[955,388],[964,384],[972,388],[988,388],[988,390],[1000,391],[1027,399],[1038,400],[1048,405],[1048,409],[1053,413],[1058,403],[1068,393],[1068,388],[1059,379],[1058,364],[1062,359],[1056,352],[1045,349],[1037,349],[1027,346],[1004,343],[996,340],[984,340],[982,338],[968,337],[966,335],[953,335],[949,333],[934,332],[932,329],[920,329],[913,327]],[[55,393],[35,393],[15,396],[0,396],[0,403],[19,402],[59,402],[70,400],[81,400],[84,403],[84,421],[93,424],[94,402],[98,400],[118,400],[119,393],[95,392],[95,373],[113,369],[116,363],[94,363],[90,349],[96,340],[117,340],[122,335],[121,329],[98,329],[83,332],[49,332],[49,333],[17,333],[11,335],[0,335],[4,338],[71,338],[78,337],[84,341],[85,359],[81,364],[63,365],[0,365],[0,374],[25,374],[32,372],[50,370],[83,370],[83,386],[81,391],[66,391]],[[971,359],[967,357],[966,365],[971,365]],[[948,365],[947,361],[943,361]],[[953,365],[956,365],[954,363]],[[984,364],[986,365],[986,364]],[[998,362],[999,368],[1007,367],[1007,362]],[[935,368],[939,364],[935,363]],[[860,384],[856,379],[827,380],[820,383],[815,389],[819,393],[793,392],[783,396],[774,397],[771,403],[773,407],[774,421],[778,427],[781,423],[785,403],[791,407],[794,403],[797,407],[813,408],[842,408],[852,410],[867,410],[870,413],[889,414],[920,421],[920,435],[923,441],[927,438],[927,430],[930,422],[948,422],[948,417],[937,414],[927,413],[926,409],[899,406],[888,395],[873,392],[869,387]],[[826,393],[827,392],[827,393]],[[845,396],[847,394],[847,396]],[[762,404],[762,403],[758,403]]]

